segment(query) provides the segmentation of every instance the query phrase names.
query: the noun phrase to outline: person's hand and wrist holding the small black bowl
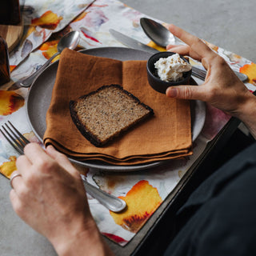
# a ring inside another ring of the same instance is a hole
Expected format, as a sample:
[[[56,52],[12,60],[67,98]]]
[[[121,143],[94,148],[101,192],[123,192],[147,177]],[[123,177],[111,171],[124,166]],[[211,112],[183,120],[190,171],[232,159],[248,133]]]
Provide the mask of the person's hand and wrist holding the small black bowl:
[[[256,138],[256,98],[237,78],[230,66],[214,53],[202,40],[170,25],[172,34],[186,42],[186,46],[167,46],[167,50],[189,55],[206,68],[206,80],[202,86],[175,86],[166,90],[167,97],[198,99],[239,118]]]

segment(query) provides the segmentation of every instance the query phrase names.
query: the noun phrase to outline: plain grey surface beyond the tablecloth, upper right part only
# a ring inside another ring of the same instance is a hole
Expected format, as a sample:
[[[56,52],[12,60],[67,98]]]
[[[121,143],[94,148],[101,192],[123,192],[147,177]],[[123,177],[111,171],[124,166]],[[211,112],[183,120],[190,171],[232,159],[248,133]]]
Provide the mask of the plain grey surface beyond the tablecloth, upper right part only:
[[[124,0],[128,6],[173,23],[216,46],[256,62],[254,0]]]

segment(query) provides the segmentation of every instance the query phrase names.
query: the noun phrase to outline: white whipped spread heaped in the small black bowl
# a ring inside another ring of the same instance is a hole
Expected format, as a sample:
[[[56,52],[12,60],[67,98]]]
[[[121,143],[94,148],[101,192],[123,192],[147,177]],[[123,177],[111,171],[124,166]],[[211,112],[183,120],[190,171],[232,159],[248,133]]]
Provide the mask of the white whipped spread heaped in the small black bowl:
[[[154,67],[157,70],[158,77],[165,82],[178,82],[183,78],[184,72],[190,71],[192,68],[179,54],[159,58],[154,63]]]

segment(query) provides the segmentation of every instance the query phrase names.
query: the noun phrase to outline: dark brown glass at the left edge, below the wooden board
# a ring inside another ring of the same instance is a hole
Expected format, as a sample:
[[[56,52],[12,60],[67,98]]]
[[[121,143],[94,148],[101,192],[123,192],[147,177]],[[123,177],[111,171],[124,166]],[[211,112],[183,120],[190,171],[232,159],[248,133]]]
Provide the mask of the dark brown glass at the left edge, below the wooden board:
[[[0,85],[10,81],[9,54],[6,41],[0,36]]]

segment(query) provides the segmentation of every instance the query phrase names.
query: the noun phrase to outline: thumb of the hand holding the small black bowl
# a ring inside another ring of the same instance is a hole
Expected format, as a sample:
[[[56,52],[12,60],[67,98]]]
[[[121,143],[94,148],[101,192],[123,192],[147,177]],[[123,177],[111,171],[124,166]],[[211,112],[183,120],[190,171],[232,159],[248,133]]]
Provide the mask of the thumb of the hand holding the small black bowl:
[[[166,96],[169,98],[198,99],[205,101],[205,94],[200,87],[202,86],[170,86],[166,90]]]

